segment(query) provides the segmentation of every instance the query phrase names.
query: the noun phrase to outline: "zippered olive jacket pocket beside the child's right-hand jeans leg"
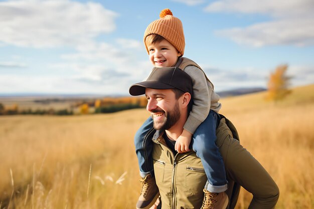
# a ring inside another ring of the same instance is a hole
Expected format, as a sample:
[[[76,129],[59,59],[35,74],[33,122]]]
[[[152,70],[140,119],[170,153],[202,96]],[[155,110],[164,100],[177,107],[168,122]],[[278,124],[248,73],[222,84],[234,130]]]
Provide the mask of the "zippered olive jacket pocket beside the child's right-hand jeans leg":
[[[185,188],[191,195],[203,192],[207,176],[203,167],[187,165],[185,170]]]

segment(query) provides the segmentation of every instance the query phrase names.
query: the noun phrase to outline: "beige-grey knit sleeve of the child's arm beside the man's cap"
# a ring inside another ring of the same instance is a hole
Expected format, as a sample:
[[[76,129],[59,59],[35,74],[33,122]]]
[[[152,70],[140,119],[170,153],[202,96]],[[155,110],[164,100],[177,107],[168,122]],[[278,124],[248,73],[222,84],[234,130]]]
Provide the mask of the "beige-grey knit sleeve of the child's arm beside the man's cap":
[[[208,86],[206,76],[201,69],[187,66],[184,71],[191,76],[193,82],[193,106],[184,129],[194,134],[197,127],[208,116],[213,89]]]

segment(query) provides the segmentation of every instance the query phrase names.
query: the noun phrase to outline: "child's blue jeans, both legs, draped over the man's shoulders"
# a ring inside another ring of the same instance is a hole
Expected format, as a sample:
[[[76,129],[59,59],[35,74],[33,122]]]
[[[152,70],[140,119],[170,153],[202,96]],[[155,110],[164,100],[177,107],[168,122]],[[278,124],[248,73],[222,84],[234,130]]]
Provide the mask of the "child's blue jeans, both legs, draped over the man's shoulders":
[[[205,188],[210,192],[223,192],[227,190],[225,166],[222,156],[216,146],[216,127],[219,115],[210,110],[207,118],[196,129],[190,144],[196,155],[201,158],[208,182]],[[149,117],[138,129],[134,137],[135,151],[138,159],[140,175],[145,177],[153,173],[152,147],[153,142],[148,135],[153,131],[153,121]]]

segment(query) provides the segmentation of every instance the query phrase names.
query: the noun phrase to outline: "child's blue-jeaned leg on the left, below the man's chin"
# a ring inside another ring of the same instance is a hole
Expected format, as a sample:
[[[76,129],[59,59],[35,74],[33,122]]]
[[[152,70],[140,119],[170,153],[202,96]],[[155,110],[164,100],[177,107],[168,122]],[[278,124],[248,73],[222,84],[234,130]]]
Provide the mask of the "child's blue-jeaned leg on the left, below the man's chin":
[[[153,127],[152,118],[149,117],[137,130],[134,136],[135,152],[138,159],[139,174],[144,178],[147,174],[154,176],[152,163],[152,141],[147,138],[147,134]],[[146,137],[145,137],[146,136]]]

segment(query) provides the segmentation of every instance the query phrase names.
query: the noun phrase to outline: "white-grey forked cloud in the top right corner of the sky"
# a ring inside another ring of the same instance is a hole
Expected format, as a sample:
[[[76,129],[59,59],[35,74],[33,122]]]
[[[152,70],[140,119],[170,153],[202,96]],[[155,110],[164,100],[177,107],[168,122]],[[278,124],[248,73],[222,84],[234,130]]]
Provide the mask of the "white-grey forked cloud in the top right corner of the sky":
[[[314,4],[311,0],[223,0],[211,3],[205,8],[205,11],[211,13],[258,13],[273,17],[273,21],[216,32],[238,44],[253,47],[314,45],[314,13],[312,12]]]

